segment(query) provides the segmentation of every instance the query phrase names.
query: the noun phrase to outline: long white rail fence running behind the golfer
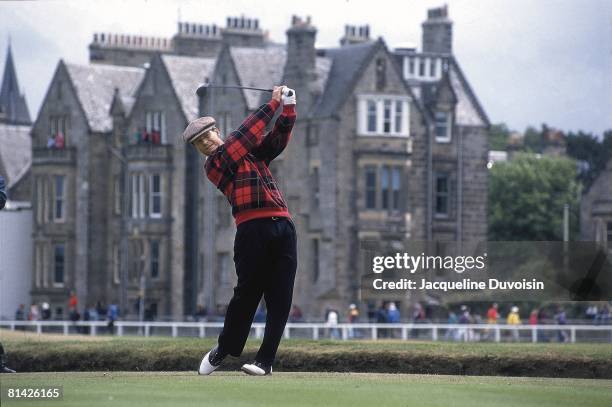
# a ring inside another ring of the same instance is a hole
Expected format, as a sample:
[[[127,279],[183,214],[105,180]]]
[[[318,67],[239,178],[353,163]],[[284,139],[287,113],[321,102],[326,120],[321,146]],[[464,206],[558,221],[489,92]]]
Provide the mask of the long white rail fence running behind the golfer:
[[[261,338],[264,323],[254,323],[251,334]],[[42,333],[84,335],[140,335],[216,337],[223,322],[116,321],[0,321],[0,328]],[[612,343],[612,325],[488,325],[488,324],[338,324],[288,323],[285,338],[301,339],[417,339],[489,342],[601,342]]]

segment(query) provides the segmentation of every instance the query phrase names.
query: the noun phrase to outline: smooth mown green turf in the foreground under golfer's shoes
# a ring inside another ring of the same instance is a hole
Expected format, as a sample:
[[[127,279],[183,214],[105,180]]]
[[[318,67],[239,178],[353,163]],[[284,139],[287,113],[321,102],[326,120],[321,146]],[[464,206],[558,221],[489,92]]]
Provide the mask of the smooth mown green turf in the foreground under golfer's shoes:
[[[62,385],[61,401],[3,406],[610,406],[612,381],[372,373],[26,373],[7,386]],[[4,393],[4,390],[3,390]]]

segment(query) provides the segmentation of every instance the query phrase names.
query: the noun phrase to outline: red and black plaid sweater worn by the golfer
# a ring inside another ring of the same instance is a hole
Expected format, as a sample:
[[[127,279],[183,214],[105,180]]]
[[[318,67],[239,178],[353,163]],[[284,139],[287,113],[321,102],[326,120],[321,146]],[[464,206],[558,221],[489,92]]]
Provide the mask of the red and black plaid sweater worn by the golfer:
[[[232,205],[236,225],[247,220],[279,216],[289,210],[268,165],[287,146],[295,123],[295,106],[285,106],[273,130],[264,137],[280,102],[261,105],[208,157],[208,179]]]

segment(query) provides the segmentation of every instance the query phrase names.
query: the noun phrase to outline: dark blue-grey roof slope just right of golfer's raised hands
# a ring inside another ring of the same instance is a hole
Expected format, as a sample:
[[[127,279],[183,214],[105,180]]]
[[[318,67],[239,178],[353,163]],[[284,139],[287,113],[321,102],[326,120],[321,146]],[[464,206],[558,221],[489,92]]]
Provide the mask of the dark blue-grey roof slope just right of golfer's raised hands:
[[[359,73],[381,45],[380,41],[366,42],[323,51],[331,59],[331,69],[325,90],[312,110],[314,117],[328,117],[336,113],[352,91]]]

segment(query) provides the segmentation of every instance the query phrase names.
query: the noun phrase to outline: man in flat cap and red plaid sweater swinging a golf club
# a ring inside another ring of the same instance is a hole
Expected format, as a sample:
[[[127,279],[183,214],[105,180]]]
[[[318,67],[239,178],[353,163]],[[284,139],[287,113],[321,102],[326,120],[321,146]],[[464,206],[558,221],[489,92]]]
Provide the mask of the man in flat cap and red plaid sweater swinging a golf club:
[[[183,134],[186,142],[208,157],[206,175],[227,197],[237,226],[234,263],[238,282],[218,343],[202,359],[199,374],[211,374],[227,355],[240,356],[262,296],[267,308],[263,342],[255,361],[242,370],[257,376],[272,373],[291,308],[297,249],[295,226],[268,166],[289,142],[295,103],[293,89],[275,86],[272,99],[248,116],[225,142],[212,117],[192,121]],[[264,136],[281,104],[281,115]]]

